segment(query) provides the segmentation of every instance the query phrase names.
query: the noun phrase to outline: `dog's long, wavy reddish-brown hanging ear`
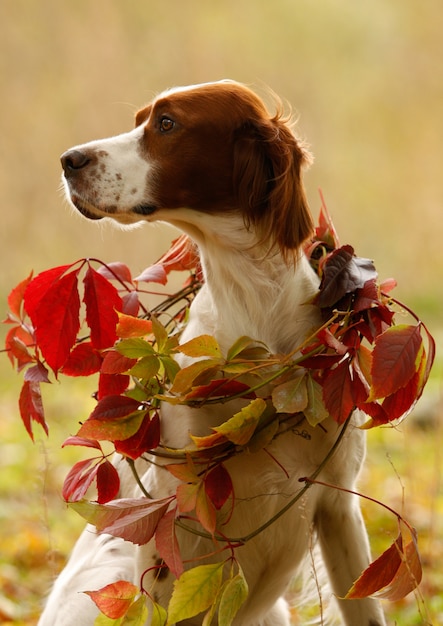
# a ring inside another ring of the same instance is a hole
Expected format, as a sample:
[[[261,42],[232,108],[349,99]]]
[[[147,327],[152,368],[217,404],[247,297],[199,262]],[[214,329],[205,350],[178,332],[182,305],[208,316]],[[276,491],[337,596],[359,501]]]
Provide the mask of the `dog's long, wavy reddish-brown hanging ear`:
[[[247,224],[262,241],[280,248],[286,260],[312,234],[313,222],[302,181],[308,153],[279,116],[251,121],[234,147],[234,189]]]

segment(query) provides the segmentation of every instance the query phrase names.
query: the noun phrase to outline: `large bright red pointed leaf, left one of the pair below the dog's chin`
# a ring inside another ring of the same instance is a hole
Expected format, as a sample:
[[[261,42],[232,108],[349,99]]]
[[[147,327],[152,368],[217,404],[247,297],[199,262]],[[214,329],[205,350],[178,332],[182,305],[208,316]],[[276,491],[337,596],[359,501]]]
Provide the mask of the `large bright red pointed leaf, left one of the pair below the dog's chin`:
[[[44,293],[39,289],[35,292],[33,288],[34,282],[41,277],[39,274],[25,293],[25,304],[35,327],[37,344],[55,373],[65,364],[80,328],[78,272],[77,269],[57,277],[49,288],[44,283]]]

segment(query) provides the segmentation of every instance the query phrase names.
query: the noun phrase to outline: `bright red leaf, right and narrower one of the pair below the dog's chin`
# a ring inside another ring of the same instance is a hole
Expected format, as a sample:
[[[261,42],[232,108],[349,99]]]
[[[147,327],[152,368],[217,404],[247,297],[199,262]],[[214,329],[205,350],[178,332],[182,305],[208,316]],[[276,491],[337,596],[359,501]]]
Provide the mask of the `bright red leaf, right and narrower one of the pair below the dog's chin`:
[[[92,345],[98,350],[109,348],[117,339],[117,311],[122,310],[122,300],[116,288],[92,267],[88,267],[83,282],[83,301],[86,304],[86,321],[91,329]]]

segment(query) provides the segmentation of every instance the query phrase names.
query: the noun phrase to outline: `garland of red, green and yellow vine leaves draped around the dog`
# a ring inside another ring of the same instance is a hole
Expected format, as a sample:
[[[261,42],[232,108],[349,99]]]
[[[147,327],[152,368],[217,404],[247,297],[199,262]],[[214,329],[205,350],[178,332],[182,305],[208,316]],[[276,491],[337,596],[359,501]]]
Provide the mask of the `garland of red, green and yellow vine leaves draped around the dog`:
[[[198,257],[184,236],[136,278],[122,263],[81,259],[36,277],[31,274],[9,295],[5,323],[11,328],[5,348],[13,366],[24,372],[19,410],[31,438],[34,423],[48,433],[42,384],[49,383],[51,376],[98,374],[96,407],[64,444],[85,446],[95,456],[72,467],[63,496],[99,532],[136,544],[155,540],[177,583],[169,617],[152,601],[154,624],[173,623],[204,611],[204,623],[209,624],[218,611],[219,623],[228,625],[246,597],[235,548],[282,512],[248,537],[223,535],[222,521],[229,519],[235,507],[226,467],[229,458],[245,450],[266,449],[273,439],[304,420],[316,426],[331,416],[344,432],[355,409],[368,415],[366,427],[397,423],[412,409],[426,384],[435,351],[432,336],[389,295],[394,281],[379,284],[372,261],[357,257],[351,246],[340,246],[324,206],[306,254],[320,277],[314,303],[324,323],[287,355],[273,355],[250,337],[240,337],[226,354],[209,335],[180,343],[187,311],[202,281]],[[146,307],[144,297],[152,298],[156,292],[146,290],[145,285],[166,284],[172,270],[186,272],[183,287],[160,295],[156,306]],[[397,324],[396,314],[405,311],[412,321]],[[179,353],[188,357],[188,365],[180,367]],[[206,436],[191,433],[192,450],[164,448],[162,402],[198,408],[233,399],[241,400],[242,408],[238,410],[237,404],[236,412]],[[178,480],[174,496],[153,500],[145,492],[138,499],[115,500],[119,475],[101,441],[111,442],[126,457],[142,491],[135,461],[148,458],[147,454],[169,459],[166,467]],[[93,483],[97,497],[88,502],[85,496]],[[310,484],[307,481],[305,489]],[[222,543],[231,551],[230,568],[228,561],[222,561],[184,571],[176,528],[191,532],[187,520],[194,524],[192,532],[212,537],[216,546]],[[195,530],[195,522],[200,530]],[[409,558],[412,551],[402,552],[402,545],[400,535],[392,550],[403,555],[402,562],[415,559],[415,552]],[[350,591],[353,597],[387,587],[386,577],[380,575],[385,561],[362,575]],[[412,583],[405,583],[405,592],[413,588],[416,570],[414,576]],[[144,623],[145,604],[128,585],[120,581],[90,593],[103,613],[97,623]],[[398,585],[395,589],[398,595]],[[185,598],[193,600],[187,604]]]

